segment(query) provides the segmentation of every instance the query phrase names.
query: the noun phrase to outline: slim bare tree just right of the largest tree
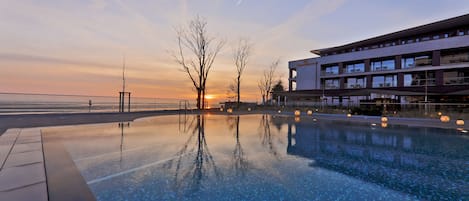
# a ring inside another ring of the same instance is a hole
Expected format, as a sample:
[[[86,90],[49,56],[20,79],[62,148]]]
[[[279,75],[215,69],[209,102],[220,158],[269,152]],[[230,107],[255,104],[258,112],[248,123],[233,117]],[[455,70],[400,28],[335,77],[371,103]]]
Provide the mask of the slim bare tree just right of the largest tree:
[[[239,108],[241,102],[241,75],[246,69],[249,56],[251,54],[251,44],[248,39],[241,38],[233,49],[233,60],[236,66],[236,106]]]

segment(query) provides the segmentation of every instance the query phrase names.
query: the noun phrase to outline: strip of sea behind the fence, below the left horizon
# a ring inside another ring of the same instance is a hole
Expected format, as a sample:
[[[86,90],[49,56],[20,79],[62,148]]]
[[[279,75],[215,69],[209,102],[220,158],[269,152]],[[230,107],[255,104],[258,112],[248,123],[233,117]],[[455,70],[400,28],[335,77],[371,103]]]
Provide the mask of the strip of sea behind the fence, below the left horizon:
[[[125,111],[128,110],[127,97]],[[90,105],[91,102],[91,105]],[[193,101],[131,97],[130,111],[193,109]],[[119,97],[59,94],[0,93],[0,115],[118,112]]]

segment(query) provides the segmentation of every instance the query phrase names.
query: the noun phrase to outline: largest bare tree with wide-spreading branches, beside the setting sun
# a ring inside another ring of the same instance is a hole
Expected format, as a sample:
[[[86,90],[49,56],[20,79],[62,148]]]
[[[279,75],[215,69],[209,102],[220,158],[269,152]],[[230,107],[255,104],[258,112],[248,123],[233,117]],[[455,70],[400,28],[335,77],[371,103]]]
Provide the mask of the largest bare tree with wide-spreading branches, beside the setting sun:
[[[177,32],[178,50],[173,54],[176,62],[187,73],[197,91],[197,109],[205,108],[205,85],[217,54],[225,44],[207,33],[207,22],[196,16]]]

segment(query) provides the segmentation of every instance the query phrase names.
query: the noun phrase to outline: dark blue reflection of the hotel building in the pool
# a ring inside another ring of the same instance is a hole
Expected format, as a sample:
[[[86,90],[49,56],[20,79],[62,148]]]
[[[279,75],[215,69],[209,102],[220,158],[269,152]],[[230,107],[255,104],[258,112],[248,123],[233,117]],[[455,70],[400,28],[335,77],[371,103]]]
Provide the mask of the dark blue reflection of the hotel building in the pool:
[[[425,128],[337,125],[289,123],[288,154],[423,199],[469,198],[467,140]]]

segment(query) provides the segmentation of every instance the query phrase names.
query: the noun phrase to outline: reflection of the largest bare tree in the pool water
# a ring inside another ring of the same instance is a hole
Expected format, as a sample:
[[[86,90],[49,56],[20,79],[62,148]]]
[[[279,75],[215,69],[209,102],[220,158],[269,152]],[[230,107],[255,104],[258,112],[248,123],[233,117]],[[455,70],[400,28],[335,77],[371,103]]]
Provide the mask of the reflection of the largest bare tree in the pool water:
[[[196,123],[193,124],[189,138],[176,153],[178,157],[165,164],[165,167],[169,169],[175,168],[174,188],[178,194],[198,191],[202,180],[212,172],[216,177],[220,176],[207,146],[205,116],[197,115],[194,118],[196,118]]]

